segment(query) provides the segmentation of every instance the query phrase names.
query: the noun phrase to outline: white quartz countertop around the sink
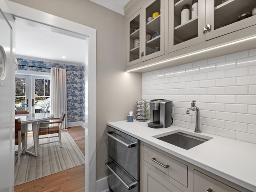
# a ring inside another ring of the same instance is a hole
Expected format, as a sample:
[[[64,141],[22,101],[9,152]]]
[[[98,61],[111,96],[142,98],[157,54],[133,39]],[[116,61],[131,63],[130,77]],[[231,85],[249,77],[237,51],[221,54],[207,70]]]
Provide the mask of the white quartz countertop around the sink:
[[[194,133],[194,130],[174,125],[168,128],[155,129],[148,127],[148,122],[138,122],[136,120],[134,122],[108,122],[108,126],[116,128],[244,188],[256,191],[256,144],[204,132],[198,134]],[[184,130],[192,134],[197,134],[200,137],[205,136],[211,137],[212,139],[189,150],[185,150],[154,137],[161,134],[164,136],[166,133],[176,132],[177,130]]]

